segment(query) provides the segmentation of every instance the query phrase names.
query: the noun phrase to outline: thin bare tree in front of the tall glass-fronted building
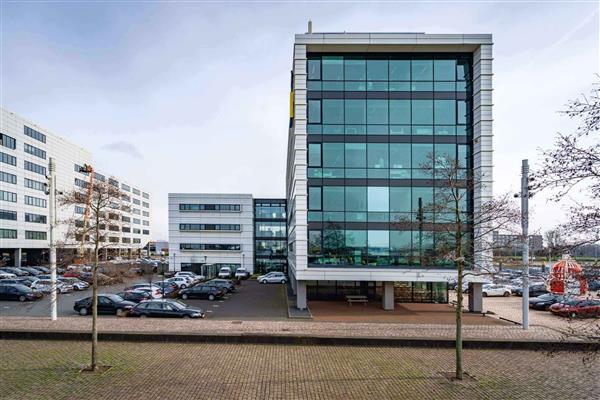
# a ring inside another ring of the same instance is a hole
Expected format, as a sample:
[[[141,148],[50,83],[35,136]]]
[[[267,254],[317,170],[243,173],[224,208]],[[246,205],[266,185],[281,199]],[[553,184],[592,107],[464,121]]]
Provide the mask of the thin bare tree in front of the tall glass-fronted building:
[[[520,211],[508,194],[472,198],[483,183],[481,177],[471,176],[466,166],[452,154],[428,156],[421,168],[432,178],[435,194],[433,199],[419,198],[417,221],[412,223],[419,232],[434,231],[436,240],[430,257],[456,266],[456,379],[463,379],[463,282],[468,276],[490,276],[495,272],[492,261],[497,244],[493,232],[517,232],[520,221]]]

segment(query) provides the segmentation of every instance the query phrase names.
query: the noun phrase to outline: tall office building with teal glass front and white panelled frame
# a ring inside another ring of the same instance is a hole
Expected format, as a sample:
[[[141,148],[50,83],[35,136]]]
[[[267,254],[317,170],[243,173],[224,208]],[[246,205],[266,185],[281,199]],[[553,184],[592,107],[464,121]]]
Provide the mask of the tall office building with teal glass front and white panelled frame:
[[[472,220],[492,196],[491,82],[491,35],[296,35],[286,195],[298,308],[345,294],[381,298],[388,310],[448,301],[454,261],[419,256],[442,231],[435,213],[417,222],[444,190],[426,164],[450,157],[475,177],[461,210]]]

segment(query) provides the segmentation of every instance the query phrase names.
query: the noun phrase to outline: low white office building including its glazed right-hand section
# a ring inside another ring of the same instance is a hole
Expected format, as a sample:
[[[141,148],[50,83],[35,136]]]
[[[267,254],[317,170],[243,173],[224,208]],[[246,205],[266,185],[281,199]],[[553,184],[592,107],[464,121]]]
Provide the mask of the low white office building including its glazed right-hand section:
[[[214,276],[221,267],[250,273],[285,271],[284,199],[251,194],[169,194],[172,271]]]

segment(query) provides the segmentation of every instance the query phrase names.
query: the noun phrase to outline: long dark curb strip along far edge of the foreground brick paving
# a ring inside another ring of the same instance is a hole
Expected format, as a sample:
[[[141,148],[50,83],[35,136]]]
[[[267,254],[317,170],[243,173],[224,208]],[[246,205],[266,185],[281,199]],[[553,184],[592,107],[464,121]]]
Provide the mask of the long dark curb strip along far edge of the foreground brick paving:
[[[0,330],[0,340],[76,340],[91,339],[89,332],[81,331],[21,331]],[[426,337],[325,337],[309,335],[273,334],[190,334],[151,332],[99,332],[98,340],[108,342],[166,342],[166,343],[228,343],[228,344],[281,344],[311,346],[374,346],[374,347],[427,347],[453,348],[453,339]],[[600,351],[600,342],[528,341],[501,339],[466,339],[465,349],[505,350],[561,350]]]

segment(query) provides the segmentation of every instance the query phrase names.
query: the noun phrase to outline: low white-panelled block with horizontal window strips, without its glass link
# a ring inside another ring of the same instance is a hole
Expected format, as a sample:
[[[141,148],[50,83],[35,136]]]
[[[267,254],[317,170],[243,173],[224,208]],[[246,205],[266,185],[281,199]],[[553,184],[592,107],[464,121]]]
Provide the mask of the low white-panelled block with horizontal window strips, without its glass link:
[[[208,264],[252,273],[253,215],[251,194],[169,193],[169,268],[209,275]]]

